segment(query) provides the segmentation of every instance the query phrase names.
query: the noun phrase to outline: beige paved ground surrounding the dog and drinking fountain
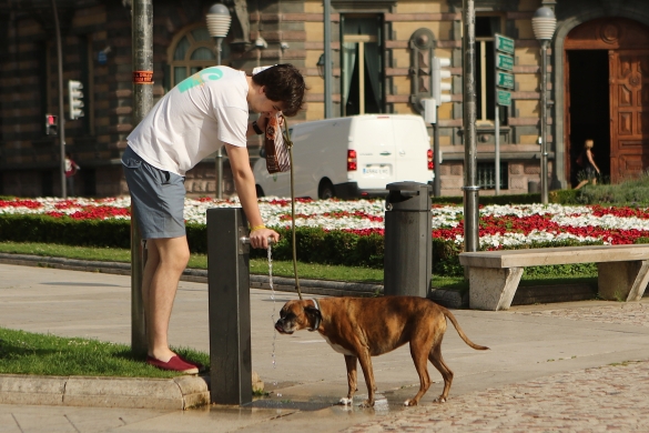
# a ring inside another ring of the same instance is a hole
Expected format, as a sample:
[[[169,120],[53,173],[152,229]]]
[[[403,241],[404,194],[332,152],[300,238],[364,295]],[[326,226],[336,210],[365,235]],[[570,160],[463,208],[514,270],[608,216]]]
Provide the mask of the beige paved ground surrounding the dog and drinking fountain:
[[[170,341],[209,350],[206,284],[181,282]],[[449,326],[443,354],[455,372],[446,404],[400,403],[416,392],[407,348],[374,358],[373,410],[334,406],[346,393],[343,356],[314,333],[276,335],[291,293],[251,291],[253,370],[271,392],[253,407],[197,410],[0,405],[0,432],[649,431],[649,300],[456,310],[466,346]],[[62,336],[130,341],[130,278],[0,264],[0,326]],[[276,365],[273,365],[273,350]],[[629,361],[633,361],[630,362]],[[635,362],[640,361],[640,362]],[[615,365],[610,365],[615,364]],[[0,376],[1,377],[1,376]],[[366,393],[359,384],[358,400]]]

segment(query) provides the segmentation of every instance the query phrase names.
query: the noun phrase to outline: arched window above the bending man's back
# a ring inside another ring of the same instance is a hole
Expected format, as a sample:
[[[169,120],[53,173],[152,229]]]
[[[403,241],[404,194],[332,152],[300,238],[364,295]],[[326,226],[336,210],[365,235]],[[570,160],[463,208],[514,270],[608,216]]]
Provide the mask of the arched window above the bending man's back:
[[[230,46],[223,43],[221,59],[230,57]],[[169,52],[170,80],[173,88],[185,78],[216,64],[215,46],[204,24],[194,24],[179,33]],[[223,62],[223,64],[227,64]],[[169,89],[166,89],[169,90]]]

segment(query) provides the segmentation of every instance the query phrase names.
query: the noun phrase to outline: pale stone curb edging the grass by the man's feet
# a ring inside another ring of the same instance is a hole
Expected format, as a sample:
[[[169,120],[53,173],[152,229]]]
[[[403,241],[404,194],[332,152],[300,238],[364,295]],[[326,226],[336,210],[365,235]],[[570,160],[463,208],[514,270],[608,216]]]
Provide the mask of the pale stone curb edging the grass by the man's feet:
[[[185,410],[210,404],[209,377],[0,375],[0,404]]]

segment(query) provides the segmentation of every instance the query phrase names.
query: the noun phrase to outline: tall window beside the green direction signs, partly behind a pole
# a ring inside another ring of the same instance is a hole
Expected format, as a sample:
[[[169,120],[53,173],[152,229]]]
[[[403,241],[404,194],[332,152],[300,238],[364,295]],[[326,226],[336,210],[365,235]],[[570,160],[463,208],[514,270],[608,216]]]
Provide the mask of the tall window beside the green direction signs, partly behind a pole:
[[[476,123],[493,124],[496,118],[494,33],[501,33],[500,17],[476,17]],[[504,110],[504,108],[501,108]],[[505,119],[504,112],[500,120]]]

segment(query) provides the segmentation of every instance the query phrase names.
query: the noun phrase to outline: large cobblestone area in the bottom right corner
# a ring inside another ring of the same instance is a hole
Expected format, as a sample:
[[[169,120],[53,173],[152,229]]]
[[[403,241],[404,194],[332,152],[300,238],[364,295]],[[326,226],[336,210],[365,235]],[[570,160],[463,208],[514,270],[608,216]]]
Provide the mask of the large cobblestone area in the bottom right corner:
[[[649,361],[628,362],[452,395],[346,432],[647,432],[647,395]]]

